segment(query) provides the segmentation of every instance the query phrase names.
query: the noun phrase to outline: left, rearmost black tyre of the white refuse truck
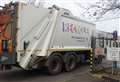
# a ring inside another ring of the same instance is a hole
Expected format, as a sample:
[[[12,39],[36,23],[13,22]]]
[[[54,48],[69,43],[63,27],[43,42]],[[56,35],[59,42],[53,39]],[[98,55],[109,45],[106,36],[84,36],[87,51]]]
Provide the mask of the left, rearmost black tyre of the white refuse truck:
[[[51,75],[59,74],[62,71],[63,66],[62,59],[55,54],[50,56],[46,62],[48,72]]]

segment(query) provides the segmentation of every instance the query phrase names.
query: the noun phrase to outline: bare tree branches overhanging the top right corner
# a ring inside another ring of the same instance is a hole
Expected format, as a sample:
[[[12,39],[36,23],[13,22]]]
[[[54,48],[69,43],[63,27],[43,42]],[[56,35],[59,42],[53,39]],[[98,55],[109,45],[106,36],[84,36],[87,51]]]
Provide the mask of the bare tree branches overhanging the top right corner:
[[[83,15],[100,19],[107,13],[120,14],[120,0],[98,0],[95,4],[89,5],[87,8],[77,3],[79,7],[86,9]]]

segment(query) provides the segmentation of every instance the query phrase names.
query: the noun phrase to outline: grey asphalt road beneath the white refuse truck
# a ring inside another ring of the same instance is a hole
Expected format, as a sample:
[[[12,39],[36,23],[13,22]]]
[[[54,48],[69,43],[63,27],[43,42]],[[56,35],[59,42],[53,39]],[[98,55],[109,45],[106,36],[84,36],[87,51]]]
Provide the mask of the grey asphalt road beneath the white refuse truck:
[[[72,72],[48,75],[44,70],[14,69],[0,72],[0,82],[103,82],[89,75],[89,65],[78,66]]]

